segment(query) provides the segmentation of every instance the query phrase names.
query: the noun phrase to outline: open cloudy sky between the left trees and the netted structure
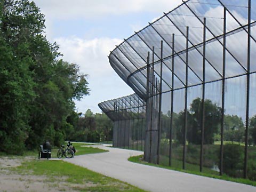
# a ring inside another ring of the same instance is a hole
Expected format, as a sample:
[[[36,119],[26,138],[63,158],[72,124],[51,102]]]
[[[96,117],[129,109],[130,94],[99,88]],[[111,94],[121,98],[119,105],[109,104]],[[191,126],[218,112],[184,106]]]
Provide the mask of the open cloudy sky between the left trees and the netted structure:
[[[45,14],[48,41],[57,42],[62,59],[88,74],[90,95],[76,101],[78,112],[100,113],[98,103],[133,94],[111,68],[110,51],[181,0],[34,0]]]

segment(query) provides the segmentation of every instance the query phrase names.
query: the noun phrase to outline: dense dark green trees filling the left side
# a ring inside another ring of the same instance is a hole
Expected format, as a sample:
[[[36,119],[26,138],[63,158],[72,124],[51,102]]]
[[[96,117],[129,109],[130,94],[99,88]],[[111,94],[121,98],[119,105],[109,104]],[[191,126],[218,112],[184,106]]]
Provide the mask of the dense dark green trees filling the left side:
[[[6,153],[45,140],[58,145],[72,127],[74,99],[89,93],[78,66],[58,59],[44,22],[34,2],[0,1],[0,150]]]

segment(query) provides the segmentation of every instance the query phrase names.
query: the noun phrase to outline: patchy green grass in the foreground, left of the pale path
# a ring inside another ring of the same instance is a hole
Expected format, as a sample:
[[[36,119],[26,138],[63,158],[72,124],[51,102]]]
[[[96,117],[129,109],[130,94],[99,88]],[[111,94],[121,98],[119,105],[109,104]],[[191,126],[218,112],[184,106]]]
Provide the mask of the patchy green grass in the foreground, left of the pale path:
[[[118,181],[64,161],[33,160],[10,169],[19,175],[42,177],[45,185],[59,191],[144,191],[128,183]]]

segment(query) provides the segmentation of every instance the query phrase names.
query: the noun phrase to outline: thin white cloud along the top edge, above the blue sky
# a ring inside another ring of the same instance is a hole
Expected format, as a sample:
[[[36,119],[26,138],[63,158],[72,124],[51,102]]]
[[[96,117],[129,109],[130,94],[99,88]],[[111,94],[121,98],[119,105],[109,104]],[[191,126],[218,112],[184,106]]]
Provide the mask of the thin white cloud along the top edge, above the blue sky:
[[[182,3],[181,0],[34,0],[46,15],[53,18],[73,19],[83,17],[86,19],[100,18],[104,15],[122,15],[135,12],[163,12],[170,11]],[[165,7],[166,10],[163,10]]]

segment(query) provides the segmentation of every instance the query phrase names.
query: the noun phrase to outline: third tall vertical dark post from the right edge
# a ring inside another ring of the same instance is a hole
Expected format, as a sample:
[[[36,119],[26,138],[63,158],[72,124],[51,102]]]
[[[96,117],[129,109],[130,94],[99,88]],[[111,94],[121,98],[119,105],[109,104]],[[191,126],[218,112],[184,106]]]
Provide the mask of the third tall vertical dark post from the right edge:
[[[200,172],[203,170],[203,150],[204,150],[204,122],[205,122],[205,45],[206,41],[206,18],[204,18],[204,37],[203,37],[203,93],[202,93],[202,122],[201,122],[201,150],[200,150]]]

